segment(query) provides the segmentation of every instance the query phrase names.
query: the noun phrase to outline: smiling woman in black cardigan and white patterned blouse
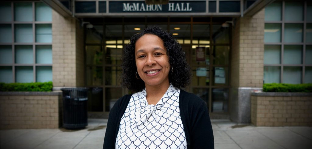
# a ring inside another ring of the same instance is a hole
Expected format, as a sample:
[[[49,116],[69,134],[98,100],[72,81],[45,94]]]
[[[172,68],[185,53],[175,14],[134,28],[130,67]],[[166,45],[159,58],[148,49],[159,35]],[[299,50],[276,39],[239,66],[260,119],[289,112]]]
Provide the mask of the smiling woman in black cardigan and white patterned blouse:
[[[134,35],[122,56],[121,97],[110,111],[105,149],[214,148],[207,105],[180,90],[191,72],[180,44],[152,26]]]

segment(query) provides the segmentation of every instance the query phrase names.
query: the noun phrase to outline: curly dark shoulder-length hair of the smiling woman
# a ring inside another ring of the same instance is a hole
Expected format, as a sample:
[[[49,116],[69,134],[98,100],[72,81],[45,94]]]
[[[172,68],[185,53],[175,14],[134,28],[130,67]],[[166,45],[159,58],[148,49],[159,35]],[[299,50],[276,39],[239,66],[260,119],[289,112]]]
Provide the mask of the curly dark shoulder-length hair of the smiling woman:
[[[147,27],[143,32],[133,35],[130,42],[124,47],[124,53],[121,57],[121,86],[136,92],[145,88],[144,81],[142,79],[138,80],[135,76],[137,68],[134,54],[135,43],[145,34],[157,35],[163,40],[164,47],[167,49],[170,67],[173,68],[173,71],[170,70],[169,72],[169,82],[178,89],[187,86],[192,74],[190,66],[186,62],[185,52],[170,33],[163,31],[158,26]]]

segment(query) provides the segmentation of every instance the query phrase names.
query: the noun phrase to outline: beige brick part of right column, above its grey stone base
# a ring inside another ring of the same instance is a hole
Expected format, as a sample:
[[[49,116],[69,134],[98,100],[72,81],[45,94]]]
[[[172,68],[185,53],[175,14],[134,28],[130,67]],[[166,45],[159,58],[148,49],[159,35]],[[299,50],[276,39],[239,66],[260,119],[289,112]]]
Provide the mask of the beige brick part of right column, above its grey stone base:
[[[264,9],[238,18],[232,33],[232,87],[263,86]]]

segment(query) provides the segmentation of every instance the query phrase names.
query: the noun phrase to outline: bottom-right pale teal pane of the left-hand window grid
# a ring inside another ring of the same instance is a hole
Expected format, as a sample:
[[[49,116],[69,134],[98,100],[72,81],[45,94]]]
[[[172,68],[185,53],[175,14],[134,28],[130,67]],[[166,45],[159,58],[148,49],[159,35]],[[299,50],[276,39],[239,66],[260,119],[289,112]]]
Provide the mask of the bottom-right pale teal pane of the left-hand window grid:
[[[37,66],[36,81],[37,82],[52,81],[52,66]]]

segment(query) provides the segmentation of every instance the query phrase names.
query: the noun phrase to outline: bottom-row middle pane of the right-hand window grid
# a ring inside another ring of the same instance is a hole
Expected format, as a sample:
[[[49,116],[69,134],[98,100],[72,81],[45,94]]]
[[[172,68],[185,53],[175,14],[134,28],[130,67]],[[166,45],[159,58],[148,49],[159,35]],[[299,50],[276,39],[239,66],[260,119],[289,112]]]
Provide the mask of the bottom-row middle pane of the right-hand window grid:
[[[301,67],[284,67],[283,83],[300,84],[302,78]]]

